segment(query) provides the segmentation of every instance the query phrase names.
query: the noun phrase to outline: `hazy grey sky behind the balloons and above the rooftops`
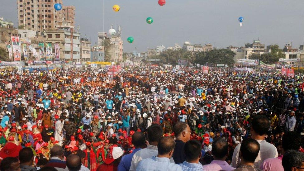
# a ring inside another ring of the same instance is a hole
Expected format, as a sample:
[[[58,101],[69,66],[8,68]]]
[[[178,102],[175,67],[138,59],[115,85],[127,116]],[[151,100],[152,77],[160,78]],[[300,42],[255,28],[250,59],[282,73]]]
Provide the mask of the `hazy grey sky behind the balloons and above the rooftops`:
[[[103,31],[103,0],[63,0],[76,7],[76,25],[81,37],[87,35],[92,45],[97,32]],[[118,4],[119,12],[112,6]],[[288,42],[298,48],[303,45],[304,0],[104,0],[104,31],[111,25],[122,26],[124,52],[146,51],[160,44],[165,47],[185,41],[194,44],[211,43],[214,47],[244,46],[259,40],[266,45]],[[238,18],[244,17],[240,27]],[[0,17],[17,26],[17,0],[0,0]],[[146,18],[152,17],[152,24]],[[133,36],[129,44],[126,39]]]

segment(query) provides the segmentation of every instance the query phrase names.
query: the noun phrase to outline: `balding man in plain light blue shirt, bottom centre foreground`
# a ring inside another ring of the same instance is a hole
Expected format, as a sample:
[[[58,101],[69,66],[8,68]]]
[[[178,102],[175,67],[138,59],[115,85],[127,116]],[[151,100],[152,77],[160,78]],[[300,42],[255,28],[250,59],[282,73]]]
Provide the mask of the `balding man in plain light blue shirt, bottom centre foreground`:
[[[181,166],[175,163],[170,163],[174,147],[175,141],[171,136],[162,137],[157,145],[157,156],[141,160],[136,171],[182,171]]]

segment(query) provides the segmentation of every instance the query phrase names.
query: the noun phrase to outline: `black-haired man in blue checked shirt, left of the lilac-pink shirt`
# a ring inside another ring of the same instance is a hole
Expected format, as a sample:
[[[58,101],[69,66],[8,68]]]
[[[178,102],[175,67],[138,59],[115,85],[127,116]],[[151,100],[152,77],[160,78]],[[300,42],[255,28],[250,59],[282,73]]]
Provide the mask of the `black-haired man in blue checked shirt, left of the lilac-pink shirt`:
[[[186,161],[178,164],[182,167],[183,171],[202,171],[203,166],[199,162],[202,156],[202,145],[198,140],[189,140],[184,146],[184,154]]]

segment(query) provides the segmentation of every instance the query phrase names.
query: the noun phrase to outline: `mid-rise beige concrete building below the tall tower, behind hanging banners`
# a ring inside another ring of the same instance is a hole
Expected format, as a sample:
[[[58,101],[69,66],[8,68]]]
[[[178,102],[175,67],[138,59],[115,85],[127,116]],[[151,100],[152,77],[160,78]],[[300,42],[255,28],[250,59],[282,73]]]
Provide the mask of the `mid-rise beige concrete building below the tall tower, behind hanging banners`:
[[[47,30],[44,35],[38,35],[30,40],[35,48],[38,48],[38,43],[41,42],[52,43],[53,53],[54,44],[59,44],[61,61],[80,62],[80,33],[75,32],[73,26],[59,22],[58,30]]]

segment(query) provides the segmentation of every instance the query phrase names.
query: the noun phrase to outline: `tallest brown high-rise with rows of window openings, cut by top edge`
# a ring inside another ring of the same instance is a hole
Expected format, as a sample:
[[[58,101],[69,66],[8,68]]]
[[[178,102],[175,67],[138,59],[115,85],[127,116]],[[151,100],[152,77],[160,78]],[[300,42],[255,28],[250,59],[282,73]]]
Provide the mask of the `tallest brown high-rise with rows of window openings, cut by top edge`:
[[[62,0],[17,0],[19,28],[38,32],[54,30],[64,19],[62,10],[54,10],[55,3],[62,4]]]

